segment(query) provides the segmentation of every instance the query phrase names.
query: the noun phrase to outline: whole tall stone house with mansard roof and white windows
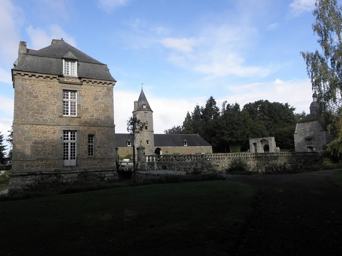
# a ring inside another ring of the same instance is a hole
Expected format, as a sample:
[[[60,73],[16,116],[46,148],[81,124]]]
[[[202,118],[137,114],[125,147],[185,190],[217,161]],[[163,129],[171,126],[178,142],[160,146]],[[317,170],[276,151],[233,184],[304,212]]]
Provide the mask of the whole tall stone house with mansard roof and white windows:
[[[37,51],[21,41],[12,81],[10,187],[108,179],[116,159],[116,80],[107,65],[63,38]]]

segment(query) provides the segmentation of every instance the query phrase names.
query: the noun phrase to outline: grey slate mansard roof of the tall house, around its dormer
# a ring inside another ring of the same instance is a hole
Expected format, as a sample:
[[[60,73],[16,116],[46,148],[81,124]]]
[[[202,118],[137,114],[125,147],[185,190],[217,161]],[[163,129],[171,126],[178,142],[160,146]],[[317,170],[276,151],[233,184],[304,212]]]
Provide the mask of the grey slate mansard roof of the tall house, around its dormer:
[[[116,80],[111,76],[107,65],[81,52],[64,40],[37,51],[28,49],[12,70],[29,71],[63,76],[62,58],[77,59],[77,76],[107,81]]]

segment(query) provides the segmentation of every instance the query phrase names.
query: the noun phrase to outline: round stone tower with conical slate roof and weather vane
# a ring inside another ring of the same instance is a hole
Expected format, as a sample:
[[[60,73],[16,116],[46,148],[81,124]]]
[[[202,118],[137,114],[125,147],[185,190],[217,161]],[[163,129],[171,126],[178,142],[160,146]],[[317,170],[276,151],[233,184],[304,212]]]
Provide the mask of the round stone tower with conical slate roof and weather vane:
[[[141,145],[146,147],[146,154],[154,154],[154,131],[153,131],[153,111],[148,104],[143,88],[139,99],[134,101],[133,117],[137,117],[141,122],[147,122],[145,128],[137,135],[135,139],[135,146]]]

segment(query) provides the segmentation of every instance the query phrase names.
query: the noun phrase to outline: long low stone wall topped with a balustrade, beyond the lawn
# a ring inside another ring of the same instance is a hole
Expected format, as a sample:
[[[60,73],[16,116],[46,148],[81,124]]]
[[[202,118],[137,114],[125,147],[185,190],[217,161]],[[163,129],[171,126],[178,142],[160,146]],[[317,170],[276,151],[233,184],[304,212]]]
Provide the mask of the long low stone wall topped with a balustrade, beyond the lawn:
[[[252,171],[260,173],[298,170],[318,162],[316,152],[279,152],[257,154],[146,155],[148,165],[171,171],[224,172],[234,158],[245,159]]]

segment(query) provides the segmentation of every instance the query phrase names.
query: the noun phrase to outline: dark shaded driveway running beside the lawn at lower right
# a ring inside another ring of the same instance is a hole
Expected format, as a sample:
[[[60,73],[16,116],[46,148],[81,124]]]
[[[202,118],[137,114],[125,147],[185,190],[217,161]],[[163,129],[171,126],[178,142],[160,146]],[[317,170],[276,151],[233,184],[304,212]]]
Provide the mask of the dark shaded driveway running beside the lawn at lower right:
[[[259,188],[236,255],[342,255],[342,189],[328,181],[336,171],[227,175]]]

